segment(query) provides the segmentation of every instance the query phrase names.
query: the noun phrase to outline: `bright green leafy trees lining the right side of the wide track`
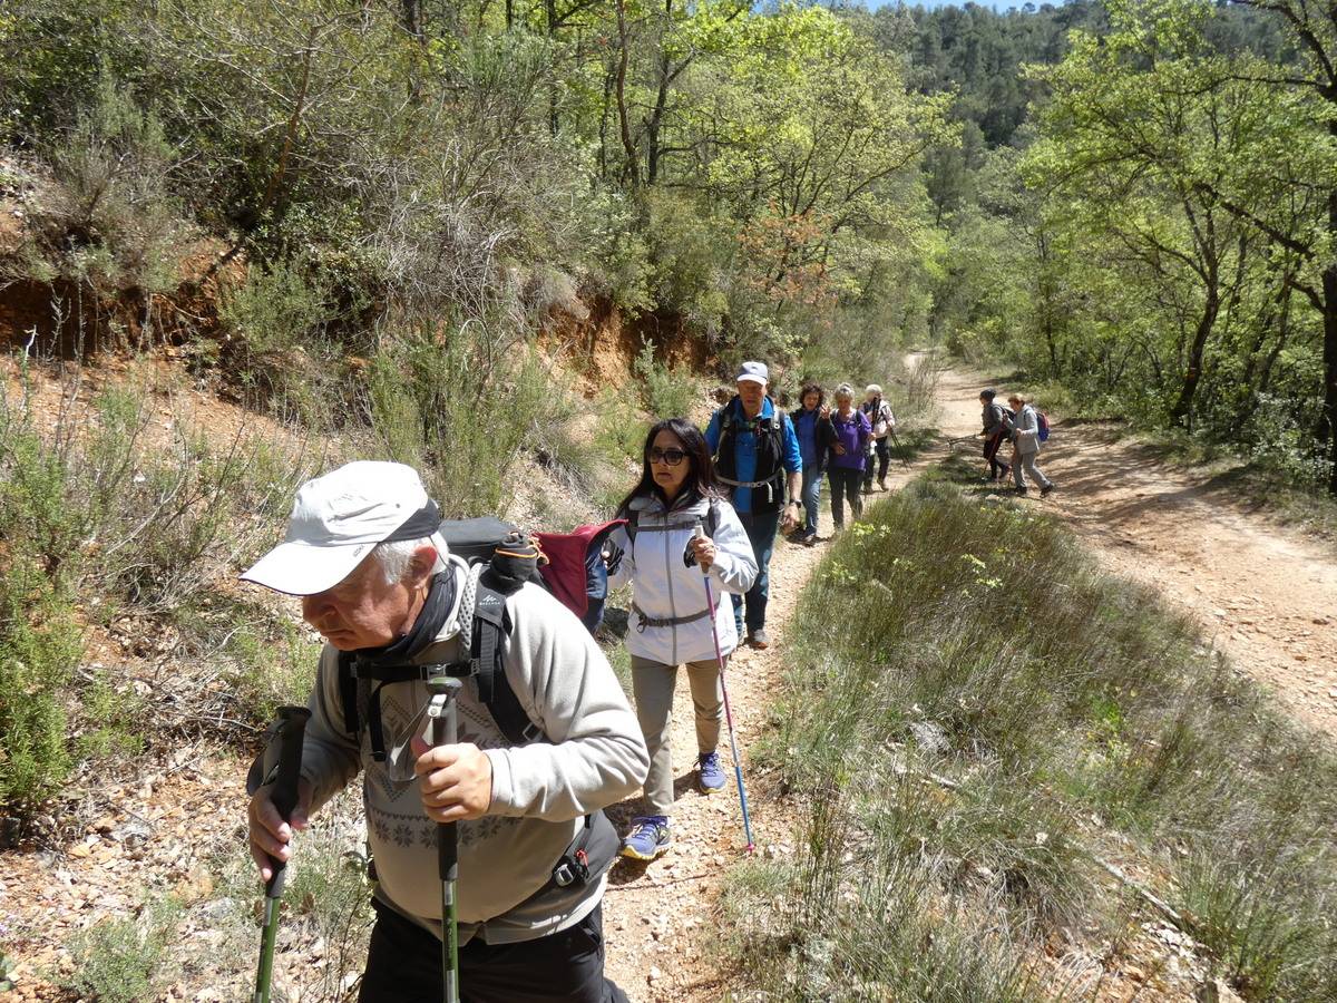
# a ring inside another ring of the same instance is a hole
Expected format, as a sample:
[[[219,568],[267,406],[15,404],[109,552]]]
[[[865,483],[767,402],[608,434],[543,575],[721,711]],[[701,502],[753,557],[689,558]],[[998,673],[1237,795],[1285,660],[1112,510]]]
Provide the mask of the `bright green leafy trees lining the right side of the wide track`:
[[[1020,71],[1027,122],[933,160],[936,328],[1088,411],[1234,443],[1337,491],[1328,15],[1302,0],[1062,9],[1062,53]],[[1056,16],[1034,15],[1042,37]],[[956,66],[971,110],[979,74]]]

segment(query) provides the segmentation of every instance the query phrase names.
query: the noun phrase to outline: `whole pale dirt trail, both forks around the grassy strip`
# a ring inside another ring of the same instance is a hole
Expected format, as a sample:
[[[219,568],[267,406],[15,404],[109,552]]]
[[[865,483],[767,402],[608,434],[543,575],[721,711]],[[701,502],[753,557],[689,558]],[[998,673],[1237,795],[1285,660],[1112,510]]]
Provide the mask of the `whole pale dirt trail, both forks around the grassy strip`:
[[[944,436],[979,428],[979,391],[987,382],[961,370],[939,373],[935,399]],[[923,457],[915,472],[943,455]],[[1032,495],[1027,504],[1067,522],[1102,566],[1150,584],[1195,615],[1213,643],[1300,718],[1337,732],[1337,566],[1328,551],[1243,511],[1206,477],[1118,441],[1108,428],[1058,423],[1040,465],[1059,488],[1044,500]],[[893,468],[890,480],[900,487],[910,476]],[[821,532],[830,532],[826,512]],[[739,653],[727,675],[745,748],[765,726],[798,594],[822,552],[783,542],[775,550],[767,625],[775,643],[763,653]],[[619,861],[604,900],[608,971],[636,1003],[721,998],[710,945],[719,923],[715,896],[743,847],[733,788],[707,798],[693,786],[695,734],[685,686],[674,703],[671,741],[679,792],[674,849],[648,867]],[[794,852],[792,816],[761,786],[749,789],[749,804],[758,853]],[[635,809],[628,802],[614,817],[624,824]]]

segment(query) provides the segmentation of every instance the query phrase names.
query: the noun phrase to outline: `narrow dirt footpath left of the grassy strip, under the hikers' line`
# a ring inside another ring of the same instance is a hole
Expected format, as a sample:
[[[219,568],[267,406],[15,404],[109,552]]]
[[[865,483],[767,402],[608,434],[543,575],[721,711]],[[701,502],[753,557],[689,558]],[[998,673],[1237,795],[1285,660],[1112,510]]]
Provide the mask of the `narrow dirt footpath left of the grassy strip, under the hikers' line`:
[[[908,360],[912,361],[913,356]],[[977,416],[971,416],[975,423]],[[949,417],[944,428],[963,435],[969,427]],[[888,488],[896,489],[920,472],[933,457],[921,459],[913,469],[894,461]],[[824,488],[818,532],[830,536],[832,522]],[[876,503],[885,495],[873,493],[865,502]],[[742,749],[762,733],[770,701],[779,689],[783,651],[794,610],[804,586],[826,552],[825,544],[797,547],[778,540],[770,564],[770,602],[766,627],[771,646],[766,651],[741,650],[726,673],[734,723]],[[652,864],[619,860],[610,876],[604,897],[604,939],[608,950],[608,975],[634,1003],[687,1003],[718,1000],[723,980],[711,941],[718,939],[715,896],[726,869],[743,856],[742,816],[738,794],[730,785],[709,797],[697,792],[693,765],[697,736],[691,698],[686,679],[679,674],[674,699],[671,745],[675,790],[673,830],[674,848]],[[729,761],[727,734],[721,736],[721,757]],[[747,805],[751,812],[757,853],[763,857],[786,857],[796,849],[793,814],[767,798],[763,786],[747,773],[743,761]],[[612,809],[610,814],[624,829],[640,812],[639,800]]]

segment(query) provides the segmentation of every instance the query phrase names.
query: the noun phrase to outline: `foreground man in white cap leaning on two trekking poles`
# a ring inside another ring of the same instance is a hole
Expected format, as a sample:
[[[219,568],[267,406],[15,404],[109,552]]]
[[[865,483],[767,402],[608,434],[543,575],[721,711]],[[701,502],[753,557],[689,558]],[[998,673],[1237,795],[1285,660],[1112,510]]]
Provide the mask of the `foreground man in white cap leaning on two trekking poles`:
[[[440,523],[410,467],[350,463],[301,487],[286,539],[242,575],[301,596],[326,642],[297,809],[285,822],[270,785],[255,792],[251,856],[267,879],[269,857],[287,861],[293,830],[361,773],[377,873],[361,1003],[443,998],[439,824],[456,824],[464,999],[626,1000],[603,974],[600,867],[618,840],[599,809],[644,778],[640,729],[590,633],[523,584],[504,599],[500,671],[487,675],[528,717],[521,742],[505,737],[500,701],[480,693],[488,659],[471,663],[461,631],[479,637],[475,599],[496,594],[449,554]],[[424,677],[443,666],[475,671],[457,697],[460,741],[433,748]]]

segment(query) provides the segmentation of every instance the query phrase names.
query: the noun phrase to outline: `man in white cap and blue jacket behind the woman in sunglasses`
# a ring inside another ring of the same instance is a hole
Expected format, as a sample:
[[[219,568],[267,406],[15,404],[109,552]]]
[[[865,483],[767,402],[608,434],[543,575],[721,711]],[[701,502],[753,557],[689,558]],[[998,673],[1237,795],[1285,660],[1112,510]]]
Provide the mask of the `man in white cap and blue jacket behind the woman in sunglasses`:
[[[769,380],[763,362],[743,362],[735,380],[737,396],[711,416],[706,428],[715,473],[731,488],[734,511],[757,558],[753,587],[746,596],[734,595],[738,634],[742,635],[746,623],[747,643],[757,649],[770,645],[766,600],[775,531],[792,532],[802,516],[804,457],[789,415],[766,396]]]

